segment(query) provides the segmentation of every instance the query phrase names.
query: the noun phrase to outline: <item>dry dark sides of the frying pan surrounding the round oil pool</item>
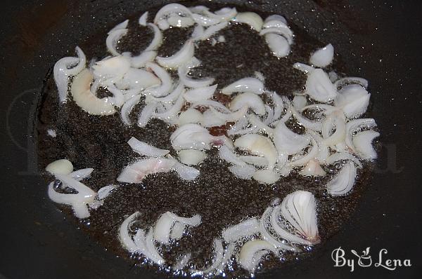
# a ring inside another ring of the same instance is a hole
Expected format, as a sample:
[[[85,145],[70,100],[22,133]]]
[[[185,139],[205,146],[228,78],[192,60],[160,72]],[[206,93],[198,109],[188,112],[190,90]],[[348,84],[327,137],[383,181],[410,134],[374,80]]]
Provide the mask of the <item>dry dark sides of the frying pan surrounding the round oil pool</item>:
[[[96,30],[168,2],[2,2],[0,278],[159,277],[92,242],[56,209],[37,172],[32,130],[42,81],[56,60]],[[371,110],[381,129],[378,168],[343,229],[312,257],[257,278],[416,278],[422,272],[422,1],[215,2],[286,15],[312,36],[335,43],[350,63],[348,74],[371,82]],[[385,257],[410,259],[412,266],[350,272],[333,266],[337,247],[371,247],[373,257],[385,248]]]

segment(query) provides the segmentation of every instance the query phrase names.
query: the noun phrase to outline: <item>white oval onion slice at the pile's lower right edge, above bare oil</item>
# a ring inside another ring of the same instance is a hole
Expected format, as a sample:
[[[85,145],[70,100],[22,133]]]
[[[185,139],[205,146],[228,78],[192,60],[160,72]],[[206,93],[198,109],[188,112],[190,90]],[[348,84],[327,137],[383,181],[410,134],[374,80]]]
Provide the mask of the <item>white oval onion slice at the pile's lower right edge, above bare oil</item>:
[[[342,196],[352,189],[356,178],[356,167],[353,162],[346,163],[335,177],[326,185],[332,196]]]

